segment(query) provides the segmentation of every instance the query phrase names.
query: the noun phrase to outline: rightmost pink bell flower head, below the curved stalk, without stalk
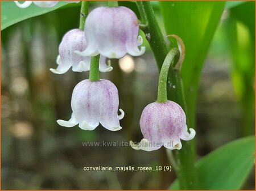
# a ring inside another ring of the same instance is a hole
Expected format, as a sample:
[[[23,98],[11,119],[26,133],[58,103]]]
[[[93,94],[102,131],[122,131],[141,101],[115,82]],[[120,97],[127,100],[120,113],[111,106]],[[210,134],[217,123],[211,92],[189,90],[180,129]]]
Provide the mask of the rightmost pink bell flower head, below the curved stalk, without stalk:
[[[196,134],[192,128],[188,133],[185,113],[174,101],[148,104],[139,125],[144,138],[137,145],[130,141],[135,150],[153,151],[162,146],[179,150],[182,147],[180,139],[189,141]]]

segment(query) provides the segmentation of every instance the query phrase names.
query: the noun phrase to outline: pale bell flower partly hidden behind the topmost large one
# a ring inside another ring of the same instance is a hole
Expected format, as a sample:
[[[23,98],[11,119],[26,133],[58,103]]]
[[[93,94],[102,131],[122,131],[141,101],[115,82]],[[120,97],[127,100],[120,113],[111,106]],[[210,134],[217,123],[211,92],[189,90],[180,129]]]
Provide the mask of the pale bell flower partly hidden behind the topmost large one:
[[[60,46],[59,55],[57,56],[57,69],[50,69],[55,74],[63,74],[72,67],[73,71],[90,70],[90,57],[79,56],[74,53],[75,50],[83,50],[86,48],[86,40],[84,31],[80,29],[72,29],[65,33]],[[113,67],[106,65],[106,57],[100,57],[100,71],[111,71]]]

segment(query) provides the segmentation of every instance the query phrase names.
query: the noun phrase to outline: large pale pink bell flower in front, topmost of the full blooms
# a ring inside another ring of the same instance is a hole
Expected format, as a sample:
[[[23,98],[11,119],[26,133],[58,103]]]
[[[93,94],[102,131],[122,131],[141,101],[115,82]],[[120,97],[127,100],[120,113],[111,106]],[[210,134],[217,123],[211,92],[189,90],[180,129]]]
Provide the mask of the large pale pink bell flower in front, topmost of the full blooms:
[[[122,58],[125,54],[141,56],[145,52],[142,37],[138,37],[139,23],[133,11],[126,7],[98,7],[85,21],[88,46],[82,56],[101,54],[108,58]]]

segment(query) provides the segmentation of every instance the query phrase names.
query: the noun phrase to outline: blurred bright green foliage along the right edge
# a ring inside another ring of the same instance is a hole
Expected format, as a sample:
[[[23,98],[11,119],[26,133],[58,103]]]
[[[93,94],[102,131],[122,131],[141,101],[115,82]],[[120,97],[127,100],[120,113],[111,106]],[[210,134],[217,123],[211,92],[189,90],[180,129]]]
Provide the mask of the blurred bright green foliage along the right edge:
[[[232,80],[241,104],[243,135],[254,129],[254,77],[255,77],[255,2],[246,2],[230,9],[225,23],[233,59]],[[245,14],[246,12],[246,14]]]

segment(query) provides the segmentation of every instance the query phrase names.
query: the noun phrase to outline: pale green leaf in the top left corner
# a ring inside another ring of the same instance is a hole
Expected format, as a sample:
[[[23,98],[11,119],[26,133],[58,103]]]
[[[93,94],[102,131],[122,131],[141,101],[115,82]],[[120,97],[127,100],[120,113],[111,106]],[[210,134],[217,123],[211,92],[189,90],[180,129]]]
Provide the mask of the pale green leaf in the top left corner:
[[[42,8],[32,3],[26,9],[20,9],[13,1],[1,1],[1,31],[22,20],[46,14],[47,12],[59,9],[59,7],[67,4],[67,2],[60,1],[54,7]]]

